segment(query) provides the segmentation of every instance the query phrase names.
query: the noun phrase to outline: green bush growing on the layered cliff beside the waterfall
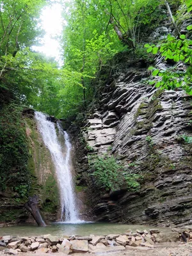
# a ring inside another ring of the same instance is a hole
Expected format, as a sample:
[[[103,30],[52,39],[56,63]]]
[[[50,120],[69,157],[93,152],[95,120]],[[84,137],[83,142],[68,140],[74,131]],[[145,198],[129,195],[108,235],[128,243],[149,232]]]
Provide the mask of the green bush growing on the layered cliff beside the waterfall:
[[[123,186],[129,191],[140,189],[140,175],[130,173],[113,156],[89,156],[91,175],[98,188],[116,190]]]

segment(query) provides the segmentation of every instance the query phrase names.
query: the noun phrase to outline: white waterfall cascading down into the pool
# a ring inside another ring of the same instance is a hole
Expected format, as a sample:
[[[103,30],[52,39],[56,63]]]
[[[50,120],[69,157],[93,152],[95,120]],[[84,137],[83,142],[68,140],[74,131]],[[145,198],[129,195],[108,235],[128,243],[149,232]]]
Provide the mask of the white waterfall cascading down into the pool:
[[[35,118],[37,120],[38,130],[42,134],[45,145],[51,152],[51,157],[56,168],[56,175],[60,187],[61,220],[63,221],[63,215],[65,214],[65,221],[77,223],[80,220],[78,220],[72,173],[70,170],[72,145],[69,141],[68,134],[57,124],[59,132],[57,135],[54,123],[46,120],[46,116],[43,113],[35,112]],[[63,147],[58,140],[58,136],[64,136],[65,138],[65,154],[63,153]]]

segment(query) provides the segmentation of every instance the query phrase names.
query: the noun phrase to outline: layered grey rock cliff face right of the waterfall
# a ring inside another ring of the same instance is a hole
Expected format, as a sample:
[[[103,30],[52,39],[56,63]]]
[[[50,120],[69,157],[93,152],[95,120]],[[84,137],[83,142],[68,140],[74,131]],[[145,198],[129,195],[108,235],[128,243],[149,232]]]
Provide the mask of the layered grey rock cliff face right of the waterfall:
[[[86,149],[82,138],[76,141],[79,182],[86,183],[88,152],[113,154],[143,176],[141,189],[109,193],[92,188],[96,220],[189,225],[192,148],[186,138],[192,134],[191,97],[149,86],[147,68],[140,61],[134,67],[132,63],[124,62],[118,76],[106,84],[99,107],[83,128]],[[156,65],[163,64],[157,60]]]

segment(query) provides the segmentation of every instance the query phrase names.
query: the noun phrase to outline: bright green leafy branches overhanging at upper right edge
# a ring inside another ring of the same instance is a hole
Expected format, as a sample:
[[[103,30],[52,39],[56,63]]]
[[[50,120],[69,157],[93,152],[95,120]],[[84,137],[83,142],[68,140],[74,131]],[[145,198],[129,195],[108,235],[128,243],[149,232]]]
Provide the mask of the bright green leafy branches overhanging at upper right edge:
[[[192,29],[191,25],[187,29]],[[165,60],[182,61],[182,63],[188,65],[188,68],[182,71],[178,70],[177,67],[166,68],[166,70],[150,67],[148,69],[152,70],[152,76],[159,77],[157,81],[151,81],[150,84],[155,84],[156,88],[160,88],[161,90],[177,90],[177,88],[182,88],[186,93],[192,95],[191,46],[192,40],[186,38],[186,35],[180,35],[179,39],[175,38],[175,36],[168,35],[166,41],[159,47],[145,44],[148,53],[157,54],[157,52],[160,52]]]

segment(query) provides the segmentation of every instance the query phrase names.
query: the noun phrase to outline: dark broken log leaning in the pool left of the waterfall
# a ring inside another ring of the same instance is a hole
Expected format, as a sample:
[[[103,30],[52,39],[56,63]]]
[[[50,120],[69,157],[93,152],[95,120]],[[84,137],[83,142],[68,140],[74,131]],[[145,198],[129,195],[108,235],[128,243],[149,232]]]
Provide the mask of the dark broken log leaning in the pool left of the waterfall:
[[[24,204],[24,207],[31,212],[33,218],[35,219],[36,223],[40,227],[45,227],[45,221],[42,218],[42,214],[40,213],[40,209],[38,208],[38,196],[29,196],[29,201]]]

